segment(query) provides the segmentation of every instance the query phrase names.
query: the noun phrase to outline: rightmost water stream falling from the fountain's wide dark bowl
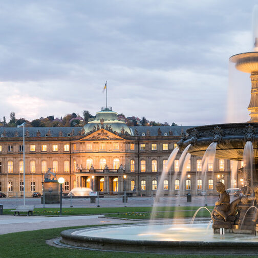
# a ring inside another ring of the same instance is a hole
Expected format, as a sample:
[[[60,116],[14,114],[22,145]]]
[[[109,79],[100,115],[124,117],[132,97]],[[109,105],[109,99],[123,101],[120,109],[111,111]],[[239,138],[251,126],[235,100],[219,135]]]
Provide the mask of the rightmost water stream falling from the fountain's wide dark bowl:
[[[253,145],[251,141],[247,141],[244,148],[244,179],[246,184],[251,188],[253,186]],[[251,180],[250,180],[251,179]]]

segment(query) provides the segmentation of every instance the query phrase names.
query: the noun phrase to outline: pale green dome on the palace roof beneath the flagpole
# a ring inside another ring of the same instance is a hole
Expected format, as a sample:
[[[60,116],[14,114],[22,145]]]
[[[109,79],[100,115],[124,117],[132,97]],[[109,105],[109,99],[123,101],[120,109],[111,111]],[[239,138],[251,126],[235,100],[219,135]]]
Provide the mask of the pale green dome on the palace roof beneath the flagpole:
[[[98,128],[105,128],[119,135],[133,135],[126,123],[118,120],[117,113],[112,111],[111,106],[102,107],[101,111],[96,113],[96,118],[83,126],[85,134],[95,132]]]

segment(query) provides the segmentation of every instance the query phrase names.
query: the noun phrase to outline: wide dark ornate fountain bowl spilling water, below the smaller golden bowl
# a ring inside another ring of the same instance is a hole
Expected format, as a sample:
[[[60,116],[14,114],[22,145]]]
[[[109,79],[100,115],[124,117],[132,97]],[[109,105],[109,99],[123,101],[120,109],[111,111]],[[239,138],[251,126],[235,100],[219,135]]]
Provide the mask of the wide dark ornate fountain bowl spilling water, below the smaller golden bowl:
[[[188,129],[178,142],[188,153],[203,156],[212,142],[217,142],[216,158],[243,160],[245,143],[252,141],[254,158],[258,159],[258,123],[228,123],[198,126]]]

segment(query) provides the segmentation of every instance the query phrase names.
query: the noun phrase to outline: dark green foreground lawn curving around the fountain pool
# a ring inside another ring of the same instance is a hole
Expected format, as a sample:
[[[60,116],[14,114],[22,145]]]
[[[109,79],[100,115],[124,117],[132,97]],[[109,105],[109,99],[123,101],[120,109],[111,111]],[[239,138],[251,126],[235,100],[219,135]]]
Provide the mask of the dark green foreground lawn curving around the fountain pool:
[[[73,228],[81,228],[73,227]],[[0,258],[166,258],[166,257],[227,257],[227,258],[243,258],[243,255],[167,255],[167,254],[148,254],[148,253],[122,253],[122,252],[102,252],[90,250],[77,250],[69,248],[57,248],[46,244],[46,240],[60,236],[60,232],[66,228],[43,229],[35,231],[26,231],[18,233],[10,233],[0,235]],[[257,257],[248,256],[248,257]]]

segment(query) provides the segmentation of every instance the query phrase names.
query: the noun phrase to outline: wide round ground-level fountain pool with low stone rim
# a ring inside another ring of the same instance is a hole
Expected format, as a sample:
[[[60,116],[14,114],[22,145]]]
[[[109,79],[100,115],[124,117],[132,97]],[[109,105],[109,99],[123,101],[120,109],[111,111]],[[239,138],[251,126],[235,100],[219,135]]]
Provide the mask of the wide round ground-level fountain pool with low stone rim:
[[[208,224],[119,225],[61,232],[62,243],[95,250],[185,253],[254,254],[258,237],[244,234],[213,234]]]

